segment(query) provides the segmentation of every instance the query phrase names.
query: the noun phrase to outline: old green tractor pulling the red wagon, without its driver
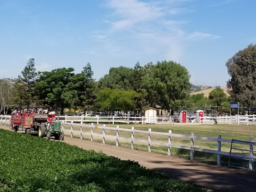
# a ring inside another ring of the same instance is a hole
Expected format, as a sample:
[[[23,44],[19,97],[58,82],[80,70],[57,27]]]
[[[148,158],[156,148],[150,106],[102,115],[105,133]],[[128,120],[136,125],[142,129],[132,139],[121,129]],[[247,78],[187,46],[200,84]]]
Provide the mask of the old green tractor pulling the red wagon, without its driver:
[[[51,121],[49,126],[46,124],[41,124],[38,130],[38,136],[43,137],[45,136],[47,139],[50,139],[50,136],[54,136],[55,139],[64,139],[64,131],[60,128],[60,121]]]

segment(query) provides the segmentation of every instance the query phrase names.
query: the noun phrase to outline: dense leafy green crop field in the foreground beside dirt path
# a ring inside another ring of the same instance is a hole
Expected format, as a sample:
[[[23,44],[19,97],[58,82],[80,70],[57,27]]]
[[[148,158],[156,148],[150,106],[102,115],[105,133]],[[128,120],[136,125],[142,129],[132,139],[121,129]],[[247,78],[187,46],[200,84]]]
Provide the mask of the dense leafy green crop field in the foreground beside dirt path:
[[[0,191],[205,191],[101,152],[0,129]]]

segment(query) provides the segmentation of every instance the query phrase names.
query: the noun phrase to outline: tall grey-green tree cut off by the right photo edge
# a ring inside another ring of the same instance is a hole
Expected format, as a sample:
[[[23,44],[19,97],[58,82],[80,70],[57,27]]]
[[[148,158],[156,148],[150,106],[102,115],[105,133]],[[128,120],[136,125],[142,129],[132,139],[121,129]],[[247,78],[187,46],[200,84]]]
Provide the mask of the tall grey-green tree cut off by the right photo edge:
[[[229,94],[250,109],[256,104],[256,44],[239,50],[226,62]]]

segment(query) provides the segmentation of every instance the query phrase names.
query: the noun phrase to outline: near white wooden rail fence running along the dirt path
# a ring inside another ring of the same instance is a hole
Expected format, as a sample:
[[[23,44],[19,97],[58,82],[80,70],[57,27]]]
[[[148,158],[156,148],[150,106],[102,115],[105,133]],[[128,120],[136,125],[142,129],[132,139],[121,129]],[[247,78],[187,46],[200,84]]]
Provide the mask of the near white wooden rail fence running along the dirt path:
[[[64,125],[70,125],[71,128],[66,129],[66,128],[64,128]],[[80,130],[74,130],[73,129],[74,125],[80,126]],[[85,127],[85,126],[90,127],[90,132],[83,131],[83,127]],[[107,126],[105,126],[105,124],[103,124],[103,126],[98,126],[98,125],[96,125],[96,126],[97,126],[97,128],[102,129],[102,134],[93,132],[93,129],[95,128],[95,125],[93,125],[93,123],[91,123],[91,125],[89,125],[89,124],[78,124],[78,123],[62,122],[62,129],[64,131],[70,132],[71,137],[73,137],[74,132],[80,133],[80,139],[82,139],[82,134],[90,135],[90,140],[91,141],[93,141],[93,136],[100,136],[100,137],[102,137],[102,142],[103,143],[105,143],[105,138],[106,137],[114,138],[116,140],[116,142],[115,142],[116,146],[119,146],[119,140],[126,140],[126,141],[131,142],[131,148],[133,148],[134,142],[147,143],[148,144],[148,152],[151,152],[151,144],[156,144],[156,145],[160,145],[160,146],[167,146],[168,147],[168,151],[167,151],[168,155],[171,155],[171,147],[182,148],[182,149],[190,150],[190,160],[193,160],[193,158],[194,158],[194,150],[209,152],[209,153],[215,153],[215,154],[217,154],[217,164],[220,164],[220,155],[230,155],[229,152],[221,151],[221,142],[231,143],[232,139],[221,138],[221,135],[218,135],[217,138],[214,138],[214,137],[196,136],[196,135],[194,135],[193,132],[191,132],[190,135],[185,135],[185,134],[172,133],[171,130],[168,130],[168,132],[155,132],[155,131],[151,131],[151,128],[148,128],[148,131],[146,131],[146,130],[136,130],[136,129],[134,129],[134,127],[131,127],[131,129],[119,128],[118,125],[116,127],[107,127]],[[116,136],[105,134],[106,129],[115,130],[116,131]],[[130,138],[120,137],[119,136],[119,131],[131,132],[131,137]],[[137,133],[148,134],[148,140],[135,139],[134,136],[135,136],[136,132]],[[163,142],[152,141],[151,140],[151,134],[166,136],[166,141],[167,142],[163,143]],[[173,137],[190,138],[190,146],[183,146],[183,145],[173,144],[171,142],[171,137],[172,136]],[[194,147],[194,139],[216,141],[217,142],[217,149],[212,150],[212,149]],[[250,138],[250,141],[237,141],[236,140],[236,141],[233,141],[233,143],[248,145],[248,148],[249,148],[249,151],[250,151],[249,154],[240,154],[240,153],[233,153],[232,152],[232,156],[243,158],[243,159],[250,159],[249,167],[250,167],[250,169],[252,169],[251,164],[253,163],[254,160],[256,160],[256,156],[253,155],[253,146],[256,146],[256,142],[253,142],[253,138]],[[254,151],[254,152],[256,152],[256,151]]]

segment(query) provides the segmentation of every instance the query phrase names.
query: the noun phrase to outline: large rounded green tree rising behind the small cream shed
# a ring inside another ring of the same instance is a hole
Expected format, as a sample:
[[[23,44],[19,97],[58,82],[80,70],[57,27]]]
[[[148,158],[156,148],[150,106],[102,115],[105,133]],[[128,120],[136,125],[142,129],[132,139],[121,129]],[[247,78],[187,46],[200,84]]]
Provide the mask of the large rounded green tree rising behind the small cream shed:
[[[161,61],[151,65],[144,77],[146,90],[154,102],[168,110],[184,106],[187,92],[191,87],[187,69],[173,61]]]

